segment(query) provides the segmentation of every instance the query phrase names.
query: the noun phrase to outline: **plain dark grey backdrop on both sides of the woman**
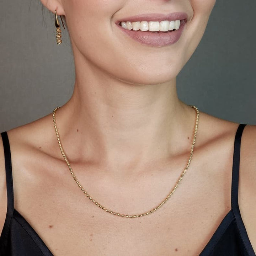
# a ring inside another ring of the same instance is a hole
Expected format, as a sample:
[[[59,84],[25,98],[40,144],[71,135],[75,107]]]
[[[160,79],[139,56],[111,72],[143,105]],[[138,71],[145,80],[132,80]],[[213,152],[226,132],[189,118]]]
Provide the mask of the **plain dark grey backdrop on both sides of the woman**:
[[[207,0],[206,0],[207,1]],[[255,0],[217,0],[206,33],[177,79],[180,99],[238,123],[256,124]],[[39,0],[0,3],[0,131],[63,105],[74,87],[68,34]]]

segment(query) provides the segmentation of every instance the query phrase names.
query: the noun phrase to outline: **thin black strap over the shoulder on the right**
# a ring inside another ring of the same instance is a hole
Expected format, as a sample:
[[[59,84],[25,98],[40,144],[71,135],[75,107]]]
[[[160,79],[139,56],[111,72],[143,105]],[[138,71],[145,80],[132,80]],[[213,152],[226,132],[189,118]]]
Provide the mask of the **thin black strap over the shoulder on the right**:
[[[239,183],[239,167],[240,167],[240,149],[242,132],[246,124],[239,124],[235,135],[233,169],[232,169],[232,185],[231,185],[231,207],[234,213],[240,215],[238,206],[238,183]],[[235,215],[236,215],[235,214]]]

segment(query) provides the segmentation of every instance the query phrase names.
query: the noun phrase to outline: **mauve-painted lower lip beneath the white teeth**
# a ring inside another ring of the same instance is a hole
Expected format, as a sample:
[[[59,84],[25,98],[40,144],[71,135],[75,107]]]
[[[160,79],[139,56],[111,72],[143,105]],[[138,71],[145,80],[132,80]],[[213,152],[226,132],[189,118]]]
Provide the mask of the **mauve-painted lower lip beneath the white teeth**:
[[[176,43],[182,34],[182,31],[186,25],[186,21],[182,20],[180,23],[180,28],[178,30],[165,32],[165,33],[154,33],[148,31],[133,31],[123,28],[119,24],[117,26],[126,33],[129,37],[134,39],[135,41],[146,44],[148,46],[169,46],[171,44]]]

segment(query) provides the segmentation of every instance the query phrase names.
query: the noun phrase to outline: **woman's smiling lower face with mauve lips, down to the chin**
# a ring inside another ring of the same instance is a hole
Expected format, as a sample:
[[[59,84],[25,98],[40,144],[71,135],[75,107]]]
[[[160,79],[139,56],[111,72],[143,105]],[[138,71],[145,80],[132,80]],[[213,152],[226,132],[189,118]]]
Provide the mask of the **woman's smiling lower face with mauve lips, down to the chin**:
[[[55,6],[52,3],[52,8],[48,8],[54,11],[58,6],[57,13],[66,17],[76,65],[85,61],[119,80],[135,84],[159,84],[177,76],[198,46],[215,3],[215,0],[54,1]],[[132,18],[140,15],[143,17]],[[125,30],[120,26],[121,21],[129,19],[135,22],[184,18],[186,22],[180,31],[168,35]]]

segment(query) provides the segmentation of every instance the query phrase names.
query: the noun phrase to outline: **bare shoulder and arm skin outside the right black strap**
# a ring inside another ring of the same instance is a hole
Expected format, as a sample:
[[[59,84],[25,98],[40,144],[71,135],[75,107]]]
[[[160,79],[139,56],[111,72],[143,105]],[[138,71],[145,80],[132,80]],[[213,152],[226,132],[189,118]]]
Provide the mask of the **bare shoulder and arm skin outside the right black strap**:
[[[241,142],[239,208],[256,251],[256,126],[247,125]]]

